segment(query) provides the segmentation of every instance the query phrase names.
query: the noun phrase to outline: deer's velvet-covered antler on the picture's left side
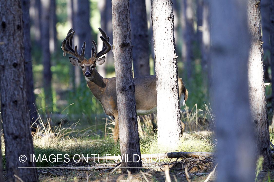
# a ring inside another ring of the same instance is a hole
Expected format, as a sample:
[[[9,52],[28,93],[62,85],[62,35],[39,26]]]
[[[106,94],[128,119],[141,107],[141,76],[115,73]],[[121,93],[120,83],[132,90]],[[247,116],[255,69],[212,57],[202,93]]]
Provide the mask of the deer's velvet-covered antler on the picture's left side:
[[[63,40],[62,42],[62,50],[64,51],[64,56],[66,56],[66,53],[71,54],[73,56],[75,56],[76,58],[79,59],[79,61],[83,61],[85,59],[84,54],[85,54],[85,42],[82,46],[81,49],[81,55],[79,55],[79,52],[77,50],[77,46],[75,46],[75,48],[73,49],[72,47],[72,42],[73,42],[73,36],[75,34],[75,31],[73,31],[73,29],[71,28],[68,31],[67,37]]]

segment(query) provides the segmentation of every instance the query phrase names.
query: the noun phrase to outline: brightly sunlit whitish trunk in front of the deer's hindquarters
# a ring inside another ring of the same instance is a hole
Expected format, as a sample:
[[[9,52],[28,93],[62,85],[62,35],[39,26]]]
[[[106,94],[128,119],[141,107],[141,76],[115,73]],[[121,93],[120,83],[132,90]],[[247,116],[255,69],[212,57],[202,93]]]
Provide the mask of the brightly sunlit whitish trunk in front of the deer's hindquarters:
[[[158,143],[177,145],[181,136],[181,118],[172,1],[152,0],[151,4],[155,50]]]

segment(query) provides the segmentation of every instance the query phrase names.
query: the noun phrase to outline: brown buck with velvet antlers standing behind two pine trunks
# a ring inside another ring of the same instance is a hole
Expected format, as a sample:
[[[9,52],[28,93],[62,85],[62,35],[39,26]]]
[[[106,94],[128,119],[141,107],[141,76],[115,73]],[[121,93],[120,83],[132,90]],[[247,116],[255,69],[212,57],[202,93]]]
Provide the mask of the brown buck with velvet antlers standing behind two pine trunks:
[[[77,45],[73,49],[72,42],[75,31],[70,29],[67,33],[67,37],[62,42],[62,50],[64,56],[66,53],[75,56],[76,58],[69,57],[69,60],[73,66],[79,66],[82,68],[85,80],[89,86],[92,94],[102,104],[105,114],[112,116],[115,121],[113,139],[117,143],[119,139],[119,116],[116,98],[116,79],[103,78],[98,71],[96,66],[102,65],[105,62],[105,56],[102,55],[108,53],[112,49],[112,45],[109,43],[109,37],[106,33],[99,28],[102,36],[100,37],[103,41],[103,47],[100,52],[97,51],[97,45],[92,40],[92,52],[91,57],[86,59],[85,54],[85,42],[82,45],[81,53],[77,50]],[[147,115],[152,112],[157,112],[157,94],[156,94],[156,76],[141,76],[133,78],[135,83],[135,98],[136,98],[136,112],[137,115]],[[185,101],[188,97],[188,91],[184,86],[181,78],[178,77],[179,86],[179,98],[182,96],[181,103],[185,105]],[[184,123],[182,123],[182,129],[184,129]]]

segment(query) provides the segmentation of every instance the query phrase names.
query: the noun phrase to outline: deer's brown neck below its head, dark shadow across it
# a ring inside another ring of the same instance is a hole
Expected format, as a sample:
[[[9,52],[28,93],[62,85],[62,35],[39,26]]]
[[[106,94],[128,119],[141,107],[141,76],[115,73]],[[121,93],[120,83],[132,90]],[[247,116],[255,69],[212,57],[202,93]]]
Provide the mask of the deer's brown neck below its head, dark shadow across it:
[[[106,79],[103,78],[96,69],[94,69],[93,71],[94,71],[93,76],[89,78],[86,77],[85,79],[87,81],[87,85],[89,86],[89,89],[92,92],[92,94],[98,100],[101,100],[106,88],[106,82],[105,82]]]

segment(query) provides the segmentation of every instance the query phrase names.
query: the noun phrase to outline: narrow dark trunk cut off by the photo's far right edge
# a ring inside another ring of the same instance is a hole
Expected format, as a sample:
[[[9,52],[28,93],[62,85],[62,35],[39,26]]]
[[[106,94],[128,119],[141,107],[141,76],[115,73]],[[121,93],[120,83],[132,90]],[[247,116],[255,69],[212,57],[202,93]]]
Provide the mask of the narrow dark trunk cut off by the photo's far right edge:
[[[271,64],[271,77],[272,77],[272,108],[274,110],[274,1],[270,1],[270,10],[269,10],[269,19],[270,19],[270,64]]]

